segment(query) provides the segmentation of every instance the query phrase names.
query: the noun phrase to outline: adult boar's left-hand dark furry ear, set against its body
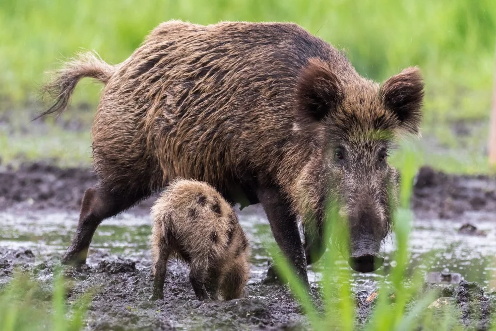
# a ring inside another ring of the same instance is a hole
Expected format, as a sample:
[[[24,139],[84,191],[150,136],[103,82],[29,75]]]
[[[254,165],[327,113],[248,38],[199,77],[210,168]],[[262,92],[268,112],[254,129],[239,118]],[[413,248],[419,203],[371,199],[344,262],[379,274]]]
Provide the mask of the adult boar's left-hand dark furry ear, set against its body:
[[[330,114],[343,98],[341,81],[329,65],[320,59],[310,59],[300,72],[296,90],[300,115],[318,122]]]

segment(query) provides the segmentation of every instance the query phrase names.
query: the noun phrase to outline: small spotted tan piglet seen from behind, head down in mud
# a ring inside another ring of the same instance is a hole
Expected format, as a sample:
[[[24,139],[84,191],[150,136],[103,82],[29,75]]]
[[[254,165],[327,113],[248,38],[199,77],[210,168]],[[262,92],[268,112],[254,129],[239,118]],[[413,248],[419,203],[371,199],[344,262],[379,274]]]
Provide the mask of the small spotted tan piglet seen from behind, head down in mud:
[[[153,294],[163,299],[167,262],[189,266],[189,281],[199,300],[243,295],[249,274],[248,239],[231,205],[210,185],[177,180],[151,210]]]

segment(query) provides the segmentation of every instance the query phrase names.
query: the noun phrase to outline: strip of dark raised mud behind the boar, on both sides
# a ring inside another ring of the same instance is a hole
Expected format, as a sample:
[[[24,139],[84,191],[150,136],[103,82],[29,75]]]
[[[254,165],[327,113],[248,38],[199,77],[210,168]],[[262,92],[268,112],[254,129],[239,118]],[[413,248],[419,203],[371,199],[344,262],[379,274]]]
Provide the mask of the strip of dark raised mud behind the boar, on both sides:
[[[89,168],[65,168],[50,162],[0,166],[0,209],[78,210],[84,192],[97,183]],[[141,203],[147,209],[151,201]],[[496,178],[450,175],[423,167],[415,178],[412,208],[425,217],[459,219],[467,211],[496,212]]]

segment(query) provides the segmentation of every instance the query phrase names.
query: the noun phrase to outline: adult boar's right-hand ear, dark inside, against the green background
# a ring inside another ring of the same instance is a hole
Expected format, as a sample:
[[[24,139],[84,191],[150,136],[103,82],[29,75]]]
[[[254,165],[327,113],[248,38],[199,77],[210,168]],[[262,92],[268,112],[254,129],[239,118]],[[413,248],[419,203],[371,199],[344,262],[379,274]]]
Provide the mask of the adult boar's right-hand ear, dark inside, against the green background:
[[[424,81],[418,67],[406,68],[384,82],[380,97],[399,120],[400,128],[419,134],[424,102]]]

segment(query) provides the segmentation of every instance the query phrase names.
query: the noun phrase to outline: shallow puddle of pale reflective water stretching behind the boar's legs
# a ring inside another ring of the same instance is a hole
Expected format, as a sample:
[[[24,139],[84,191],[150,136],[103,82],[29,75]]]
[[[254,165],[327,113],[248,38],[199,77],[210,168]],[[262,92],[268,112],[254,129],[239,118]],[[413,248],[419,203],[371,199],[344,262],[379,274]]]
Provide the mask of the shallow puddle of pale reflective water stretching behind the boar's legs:
[[[76,212],[12,211],[0,213],[0,245],[4,247],[30,248],[37,257],[60,255],[70,243],[77,224]],[[476,281],[489,290],[494,290],[496,229],[494,219],[488,214],[467,213],[466,221],[486,233],[485,236],[458,234],[464,222],[445,220],[415,220],[410,234],[411,261],[409,272],[420,268],[431,271],[457,272],[468,281]],[[261,208],[251,206],[240,213],[240,222],[252,243],[252,271],[250,282],[260,281],[267,270],[267,253],[262,239],[270,238],[270,227]],[[124,213],[106,220],[97,230],[92,249],[107,251],[126,258],[150,260],[148,237],[150,217],[146,214]],[[388,281],[387,273],[394,251],[394,238],[384,247],[384,267],[377,273],[353,273],[355,290],[371,290],[380,281]],[[91,264],[91,251],[88,262]],[[348,268],[348,265],[342,265]],[[385,274],[385,276],[383,275]],[[310,267],[309,280],[320,278],[318,268]]]

